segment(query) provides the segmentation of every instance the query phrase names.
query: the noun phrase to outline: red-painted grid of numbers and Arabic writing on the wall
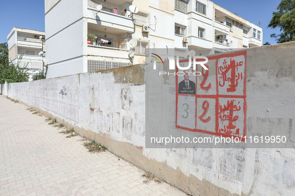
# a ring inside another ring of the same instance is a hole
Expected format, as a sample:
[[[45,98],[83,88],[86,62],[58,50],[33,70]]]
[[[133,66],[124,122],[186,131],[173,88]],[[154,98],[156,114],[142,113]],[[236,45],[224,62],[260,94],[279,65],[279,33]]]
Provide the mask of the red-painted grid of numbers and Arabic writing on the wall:
[[[247,52],[208,57],[199,68],[176,77],[176,128],[225,137],[246,136]],[[188,63],[184,60],[183,63]],[[177,70],[178,71],[178,70]],[[243,138],[242,138],[243,141]]]

